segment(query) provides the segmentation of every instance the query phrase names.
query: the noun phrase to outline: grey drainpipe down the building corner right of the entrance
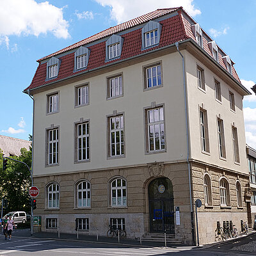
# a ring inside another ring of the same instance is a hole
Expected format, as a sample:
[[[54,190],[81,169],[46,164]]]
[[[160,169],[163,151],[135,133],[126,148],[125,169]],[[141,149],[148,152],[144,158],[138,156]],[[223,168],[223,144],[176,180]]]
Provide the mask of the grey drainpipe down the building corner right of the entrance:
[[[186,161],[188,163],[188,178],[189,178],[189,197],[190,197],[190,213],[191,213],[191,228],[192,228],[192,239],[193,244],[195,244],[195,232],[194,232],[194,215],[193,215],[193,201],[192,201],[192,188],[191,188],[191,170],[190,170],[190,162],[189,162],[189,132],[188,132],[188,102],[187,102],[187,91],[186,91],[186,75],[185,75],[185,64],[184,64],[184,56],[179,50],[179,42],[175,42],[175,46],[177,47],[177,51],[179,52],[182,58],[182,71],[183,71],[183,86],[184,86],[184,102],[185,102],[185,116],[186,116],[186,141],[187,141],[187,158]]]

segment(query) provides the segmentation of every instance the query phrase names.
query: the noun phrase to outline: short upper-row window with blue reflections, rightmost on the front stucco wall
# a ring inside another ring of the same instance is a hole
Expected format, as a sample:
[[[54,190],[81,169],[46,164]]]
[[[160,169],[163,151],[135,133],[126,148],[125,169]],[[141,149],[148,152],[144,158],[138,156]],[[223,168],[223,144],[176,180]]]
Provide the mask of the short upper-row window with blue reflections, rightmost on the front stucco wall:
[[[152,88],[162,84],[161,65],[145,68],[145,88]]]

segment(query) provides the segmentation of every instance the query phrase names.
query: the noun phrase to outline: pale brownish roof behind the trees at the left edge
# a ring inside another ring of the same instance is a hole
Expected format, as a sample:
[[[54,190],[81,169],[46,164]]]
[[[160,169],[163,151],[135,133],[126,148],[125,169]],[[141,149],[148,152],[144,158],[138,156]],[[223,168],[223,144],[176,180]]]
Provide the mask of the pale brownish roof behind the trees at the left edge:
[[[29,150],[29,147],[31,141],[0,135],[0,149],[3,150],[3,156],[20,156],[20,149]]]

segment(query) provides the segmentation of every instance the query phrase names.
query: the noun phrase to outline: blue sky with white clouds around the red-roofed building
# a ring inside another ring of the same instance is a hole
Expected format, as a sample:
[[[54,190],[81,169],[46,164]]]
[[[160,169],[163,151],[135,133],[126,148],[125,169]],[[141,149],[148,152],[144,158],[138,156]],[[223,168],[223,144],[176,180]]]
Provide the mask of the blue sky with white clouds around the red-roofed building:
[[[246,88],[256,83],[256,1],[0,0],[0,134],[28,140],[29,86],[36,60],[157,8],[183,6],[236,63]],[[256,148],[256,96],[244,97],[246,142]]]

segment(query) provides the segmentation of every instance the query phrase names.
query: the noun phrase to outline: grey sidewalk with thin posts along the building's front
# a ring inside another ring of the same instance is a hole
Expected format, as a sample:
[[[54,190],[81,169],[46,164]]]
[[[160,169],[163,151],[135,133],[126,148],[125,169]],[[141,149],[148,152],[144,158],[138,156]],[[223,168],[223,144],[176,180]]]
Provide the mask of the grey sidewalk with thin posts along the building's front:
[[[13,232],[13,237],[32,237],[36,239],[60,239],[60,240],[68,240],[68,241],[79,241],[79,242],[90,242],[90,243],[107,243],[107,244],[122,244],[127,246],[147,246],[147,247],[164,247],[164,243],[159,242],[146,242],[142,241],[140,244],[140,240],[135,239],[120,239],[120,243],[118,243],[118,238],[113,237],[97,237],[96,236],[86,236],[84,234],[79,233],[78,239],[77,234],[67,234],[67,233],[60,233],[60,238],[58,237],[58,233],[50,233],[50,232],[34,232],[33,236],[30,234],[29,228],[26,229],[17,229]],[[179,248],[180,250],[191,250],[193,248],[198,248],[196,246],[180,246],[180,244],[168,244],[167,247],[169,248]]]

